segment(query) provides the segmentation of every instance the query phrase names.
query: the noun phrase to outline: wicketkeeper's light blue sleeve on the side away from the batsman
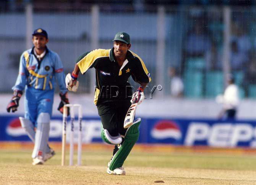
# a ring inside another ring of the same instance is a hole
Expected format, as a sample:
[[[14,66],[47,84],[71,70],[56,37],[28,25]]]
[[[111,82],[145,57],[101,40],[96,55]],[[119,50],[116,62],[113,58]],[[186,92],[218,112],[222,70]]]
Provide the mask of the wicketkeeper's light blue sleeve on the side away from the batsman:
[[[19,90],[19,91],[24,90],[26,83],[27,83],[27,76],[28,76],[28,72],[26,69],[26,61],[25,61],[24,53],[23,53],[19,60],[19,74],[18,74],[16,83],[12,88],[13,91],[14,90]]]

